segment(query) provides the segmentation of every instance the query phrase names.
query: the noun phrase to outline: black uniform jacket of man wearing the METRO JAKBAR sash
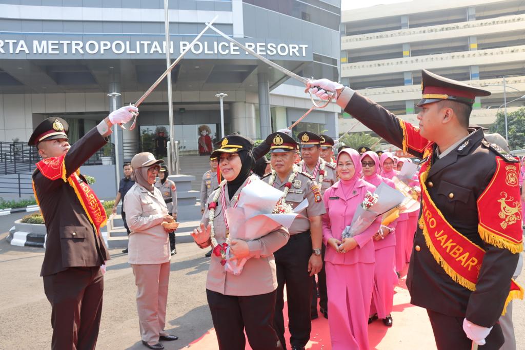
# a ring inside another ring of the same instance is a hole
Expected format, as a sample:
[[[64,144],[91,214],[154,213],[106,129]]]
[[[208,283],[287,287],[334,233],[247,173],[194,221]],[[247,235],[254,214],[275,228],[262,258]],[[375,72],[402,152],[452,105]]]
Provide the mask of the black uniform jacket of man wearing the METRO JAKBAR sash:
[[[379,104],[355,92],[344,110],[386,141],[403,148],[403,130],[399,120]],[[491,327],[503,310],[518,254],[491,246],[478,234],[476,201],[496,171],[496,156],[499,154],[485,141],[480,128],[469,132],[468,144],[462,144],[443,158],[437,158],[434,148],[434,158],[428,160],[432,166],[427,188],[449,224],[486,251],[476,291],[471,292],[454,282],[439,266],[427,248],[419,227],[414,247],[418,246],[421,250],[412,248],[406,285],[414,305],[449,316],[466,317],[472,323]],[[408,152],[419,158],[423,156],[412,149]],[[428,185],[430,182],[432,186]],[[450,193],[454,194],[453,198],[450,198]],[[497,204],[486,208],[498,209]]]

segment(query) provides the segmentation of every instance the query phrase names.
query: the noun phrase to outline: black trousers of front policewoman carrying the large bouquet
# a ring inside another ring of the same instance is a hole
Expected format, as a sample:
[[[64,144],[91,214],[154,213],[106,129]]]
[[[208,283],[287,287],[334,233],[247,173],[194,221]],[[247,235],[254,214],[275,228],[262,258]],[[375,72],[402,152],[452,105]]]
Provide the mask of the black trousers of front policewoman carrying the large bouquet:
[[[275,333],[276,292],[234,296],[206,290],[209,311],[217,334],[219,350],[244,350],[246,338],[253,350],[282,350]]]

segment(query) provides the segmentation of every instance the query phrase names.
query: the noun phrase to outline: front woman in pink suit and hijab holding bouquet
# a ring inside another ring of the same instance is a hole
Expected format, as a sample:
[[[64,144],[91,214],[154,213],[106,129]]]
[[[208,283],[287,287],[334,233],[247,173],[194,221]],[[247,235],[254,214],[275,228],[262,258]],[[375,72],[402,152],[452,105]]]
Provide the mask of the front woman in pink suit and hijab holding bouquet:
[[[323,196],[327,213],[323,215],[324,256],[327,273],[328,324],[333,350],[367,350],[368,316],[374,279],[375,235],[381,224],[377,218],[360,235],[341,239],[352,222],[355,208],[363,203],[367,191],[375,186],[360,178],[359,153],[342,150],[337,157],[340,181]]]

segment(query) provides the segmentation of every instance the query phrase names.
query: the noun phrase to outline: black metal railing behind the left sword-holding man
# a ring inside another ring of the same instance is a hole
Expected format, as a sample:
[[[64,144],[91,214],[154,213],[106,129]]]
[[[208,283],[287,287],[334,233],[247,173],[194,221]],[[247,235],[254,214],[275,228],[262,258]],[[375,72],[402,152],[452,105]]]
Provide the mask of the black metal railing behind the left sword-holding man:
[[[115,163],[115,147],[112,143],[98,150],[84,165],[100,165],[104,156],[111,157],[111,164]],[[40,160],[36,147],[28,146],[25,142],[0,142],[0,175],[33,172]]]

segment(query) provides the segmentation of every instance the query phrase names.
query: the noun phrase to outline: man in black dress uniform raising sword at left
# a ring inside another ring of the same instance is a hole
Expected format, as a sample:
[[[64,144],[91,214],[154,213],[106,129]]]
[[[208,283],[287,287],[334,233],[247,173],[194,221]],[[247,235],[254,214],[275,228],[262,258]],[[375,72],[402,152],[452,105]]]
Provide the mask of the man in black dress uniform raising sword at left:
[[[51,304],[52,349],[97,345],[109,260],[100,228],[107,217],[79,168],[109,141],[113,124],[129,122],[138,111],[125,106],[111,112],[72,146],[68,123],[61,118],[44,120],[29,138],[28,145],[36,146],[43,158],[32,177],[47,231],[40,276]]]

